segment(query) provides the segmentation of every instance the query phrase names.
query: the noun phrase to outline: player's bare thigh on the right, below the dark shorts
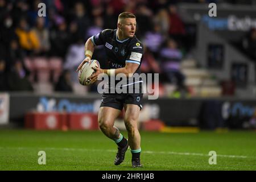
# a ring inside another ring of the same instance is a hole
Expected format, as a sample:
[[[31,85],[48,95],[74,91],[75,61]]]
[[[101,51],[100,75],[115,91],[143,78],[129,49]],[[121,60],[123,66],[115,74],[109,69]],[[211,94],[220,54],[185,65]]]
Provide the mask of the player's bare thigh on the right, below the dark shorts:
[[[125,104],[125,125],[137,126],[141,108],[135,104]]]

